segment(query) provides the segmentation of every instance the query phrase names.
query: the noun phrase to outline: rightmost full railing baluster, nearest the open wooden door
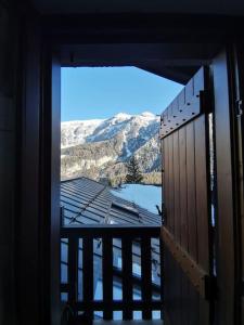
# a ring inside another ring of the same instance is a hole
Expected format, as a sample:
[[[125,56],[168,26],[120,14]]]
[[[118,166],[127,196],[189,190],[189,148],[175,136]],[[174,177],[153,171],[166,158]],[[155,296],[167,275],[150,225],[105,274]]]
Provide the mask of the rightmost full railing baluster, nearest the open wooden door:
[[[145,236],[141,238],[141,276],[142,276],[142,318],[152,318],[152,262],[151,262],[151,238]]]

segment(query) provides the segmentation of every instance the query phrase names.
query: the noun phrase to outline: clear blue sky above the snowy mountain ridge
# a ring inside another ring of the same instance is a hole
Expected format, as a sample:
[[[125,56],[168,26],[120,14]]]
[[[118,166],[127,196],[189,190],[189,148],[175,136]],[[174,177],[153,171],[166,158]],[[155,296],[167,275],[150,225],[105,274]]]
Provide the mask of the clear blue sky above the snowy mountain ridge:
[[[136,67],[62,68],[61,119],[160,114],[182,86]]]

